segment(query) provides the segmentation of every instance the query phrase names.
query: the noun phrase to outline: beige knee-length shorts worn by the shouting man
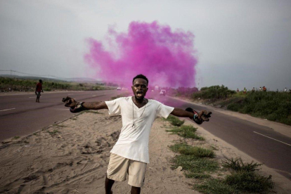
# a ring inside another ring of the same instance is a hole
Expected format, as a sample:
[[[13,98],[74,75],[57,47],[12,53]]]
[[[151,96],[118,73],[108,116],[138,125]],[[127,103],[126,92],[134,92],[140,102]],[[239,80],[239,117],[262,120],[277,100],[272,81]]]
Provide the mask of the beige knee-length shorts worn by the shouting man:
[[[111,153],[107,169],[107,178],[114,181],[125,181],[129,174],[129,185],[142,187],[145,182],[146,163],[130,160]]]

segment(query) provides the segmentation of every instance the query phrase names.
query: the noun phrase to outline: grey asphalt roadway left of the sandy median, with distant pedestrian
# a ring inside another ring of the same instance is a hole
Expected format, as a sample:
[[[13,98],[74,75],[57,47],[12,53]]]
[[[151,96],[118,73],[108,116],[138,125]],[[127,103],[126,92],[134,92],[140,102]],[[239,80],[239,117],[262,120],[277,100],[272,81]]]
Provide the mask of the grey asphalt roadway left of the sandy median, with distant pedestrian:
[[[36,96],[19,94],[0,96],[0,141],[14,136],[32,134],[54,122],[72,117],[61,101],[65,96],[73,96],[78,101],[106,101],[122,91],[67,91],[61,93],[41,93],[40,103]]]

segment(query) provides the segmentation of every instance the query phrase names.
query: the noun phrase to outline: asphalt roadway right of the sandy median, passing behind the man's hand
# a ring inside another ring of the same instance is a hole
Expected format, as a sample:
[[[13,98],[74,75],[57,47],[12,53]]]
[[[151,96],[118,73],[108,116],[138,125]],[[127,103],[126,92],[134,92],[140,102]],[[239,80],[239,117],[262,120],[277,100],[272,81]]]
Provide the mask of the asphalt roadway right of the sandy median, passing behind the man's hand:
[[[204,110],[200,105],[185,103],[167,96],[157,96],[157,101],[180,108]],[[291,180],[291,138],[269,127],[248,122],[237,117],[230,117],[212,111],[211,122],[204,122],[202,127],[227,143],[234,145],[247,155],[264,163],[266,166]]]

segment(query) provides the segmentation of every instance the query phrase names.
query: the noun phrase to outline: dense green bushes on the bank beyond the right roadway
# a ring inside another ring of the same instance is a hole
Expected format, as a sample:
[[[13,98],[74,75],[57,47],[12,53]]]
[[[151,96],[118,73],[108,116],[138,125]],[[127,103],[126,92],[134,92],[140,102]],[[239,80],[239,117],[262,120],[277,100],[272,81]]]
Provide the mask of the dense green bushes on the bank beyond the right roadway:
[[[181,90],[178,92],[177,89],[170,95],[291,125],[291,93],[289,92],[247,91],[244,93],[221,85],[203,87],[191,95],[189,91],[183,93]]]

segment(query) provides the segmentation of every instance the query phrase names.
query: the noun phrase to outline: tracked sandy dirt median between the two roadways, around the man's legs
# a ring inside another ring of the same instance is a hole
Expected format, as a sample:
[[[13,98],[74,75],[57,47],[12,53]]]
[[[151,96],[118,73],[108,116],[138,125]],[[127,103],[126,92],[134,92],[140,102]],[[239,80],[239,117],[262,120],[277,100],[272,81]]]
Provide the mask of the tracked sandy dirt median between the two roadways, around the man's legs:
[[[193,124],[186,120],[185,124]],[[8,139],[0,144],[0,193],[105,193],[105,172],[110,149],[122,127],[120,116],[106,110],[85,112],[30,136]],[[142,193],[198,193],[194,179],[183,171],[171,169],[175,153],[169,145],[187,141],[191,145],[216,148],[216,159],[243,157],[253,159],[228,143],[198,127],[206,141],[186,140],[166,132],[169,123],[157,119],[150,134],[150,164]],[[221,172],[219,172],[221,174]],[[227,174],[227,172],[225,172]],[[291,193],[288,179],[267,167],[261,174],[273,176],[276,193]],[[213,175],[216,176],[216,175]],[[221,176],[221,179],[224,175]],[[116,182],[114,193],[130,193],[127,181]]]

